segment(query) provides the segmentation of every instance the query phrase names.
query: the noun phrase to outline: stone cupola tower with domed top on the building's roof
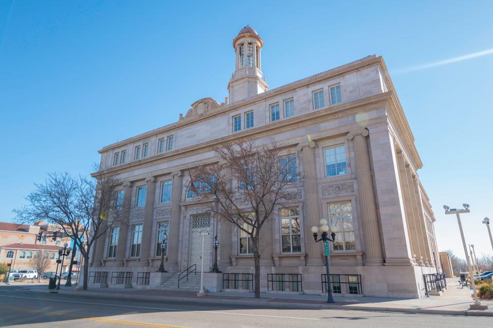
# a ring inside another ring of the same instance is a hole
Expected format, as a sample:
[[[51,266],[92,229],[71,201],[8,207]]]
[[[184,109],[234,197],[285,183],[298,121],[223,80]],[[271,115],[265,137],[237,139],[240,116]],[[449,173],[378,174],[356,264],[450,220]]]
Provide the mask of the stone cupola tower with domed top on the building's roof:
[[[267,91],[268,85],[263,80],[260,49],[263,41],[250,26],[243,27],[233,40],[235,48],[235,72],[227,84],[229,103],[236,103]]]

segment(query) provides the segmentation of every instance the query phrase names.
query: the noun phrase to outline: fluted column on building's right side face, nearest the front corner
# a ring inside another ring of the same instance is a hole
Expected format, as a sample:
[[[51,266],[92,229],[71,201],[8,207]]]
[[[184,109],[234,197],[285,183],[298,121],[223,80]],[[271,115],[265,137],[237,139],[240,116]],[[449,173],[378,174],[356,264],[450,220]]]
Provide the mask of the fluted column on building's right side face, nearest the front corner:
[[[406,176],[406,166],[404,163],[404,155],[402,151],[397,152],[397,169],[399,170],[399,180],[401,183],[401,194],[404,202],[404,213],[406,215],[406,226],[407,226],[407,235],[409,238],[409,244],[411,246],[412,258],[416,261],[416,257],[419,256],[419,245],[418,240],[416,239],[414,222],[412,219],[412,206],[411,206],[411,197],[409,195],[409,183],[407,181]]]

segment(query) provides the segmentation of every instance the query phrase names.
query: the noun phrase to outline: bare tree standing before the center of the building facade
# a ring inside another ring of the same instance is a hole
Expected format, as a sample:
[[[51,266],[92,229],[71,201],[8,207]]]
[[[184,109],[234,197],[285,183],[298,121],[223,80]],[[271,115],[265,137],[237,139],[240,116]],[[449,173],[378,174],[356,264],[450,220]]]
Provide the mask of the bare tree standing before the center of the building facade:
[[[282,145],[260,144],[256,139],[226,142],[214,150],[218,162],[188,170],[189,192],[212,200],[212,214],[250,237],[258,298],[260,231],[272,219],[276,207],[300,200],[296,161],[280,157]]]

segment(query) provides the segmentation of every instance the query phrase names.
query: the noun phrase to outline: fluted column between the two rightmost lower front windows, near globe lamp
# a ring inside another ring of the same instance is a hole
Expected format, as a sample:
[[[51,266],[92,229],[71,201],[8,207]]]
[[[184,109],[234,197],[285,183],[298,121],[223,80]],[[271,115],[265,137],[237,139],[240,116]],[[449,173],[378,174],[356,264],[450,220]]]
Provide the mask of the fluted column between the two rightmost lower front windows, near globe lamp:
[[[320,211],[318,208],[317,172],[315,170],[315,142],[298,145],[303,158],[304,206],[303,227],[305,229],[305,249],[307,265],[323,265],[321,247],[312,239],[312,226],[318,226]]]

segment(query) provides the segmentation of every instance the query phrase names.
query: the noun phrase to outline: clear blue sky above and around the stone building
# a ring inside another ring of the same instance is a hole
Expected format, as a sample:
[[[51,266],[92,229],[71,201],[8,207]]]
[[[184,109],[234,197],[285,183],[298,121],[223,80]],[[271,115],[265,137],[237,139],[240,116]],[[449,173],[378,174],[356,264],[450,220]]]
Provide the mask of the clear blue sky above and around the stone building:
[[[87,175],[102,146],[222,102],[232,40],[264,40],[270,88],[383,55],[416,139],[439,248],[464,254],[442,205],[471,205],[466,242],[493,253],[493,2],[0,2],[0,221],[47,172]],[[427,65],[472,53],[465,60]],[[414,67],[427,65],[421,69]]]

